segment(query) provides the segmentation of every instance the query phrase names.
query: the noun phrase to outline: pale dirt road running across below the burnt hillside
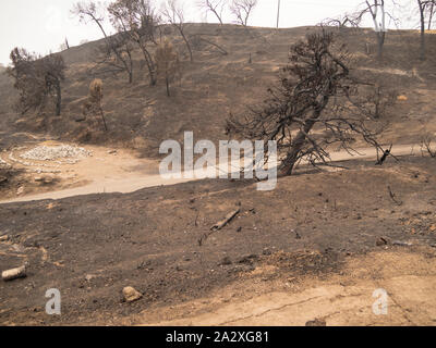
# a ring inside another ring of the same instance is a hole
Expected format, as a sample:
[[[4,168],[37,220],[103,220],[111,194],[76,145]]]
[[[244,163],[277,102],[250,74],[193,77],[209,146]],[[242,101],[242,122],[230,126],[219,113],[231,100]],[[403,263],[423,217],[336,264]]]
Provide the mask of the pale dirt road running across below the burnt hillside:
[[[76,186],[78,187],[26,195],[13,199],[0,199],[0,203],[62,199],[92,194],[129,194],[142,188],[175,185],[197,179],[195,178],[196,175],[194,175],[194,178],[164,178],[158,174],[158,162],[137,159],[126,151],[120,150],[120,152],[108,153],[108,149],[104,148],[89,147],[87,149],[94,151],[95,154],[76,164],[71,164],[71,167],[63,167],[63,171],[66,173],[78,173],[76,175],[82,179],[76,179]],[[395,146],[392,148],[392,153],[396,156],[416,154],[420,153],[420,146]],[[377,153],[374,148],[361,148],[358,149],[356,153],[349,153],[343,150],[331,152],[332,162],[376,158]],[[234,169],[235,164],[237,163],[232,163],[231,167]],[[69,178],[71,178],[71,176],[69,176]]]

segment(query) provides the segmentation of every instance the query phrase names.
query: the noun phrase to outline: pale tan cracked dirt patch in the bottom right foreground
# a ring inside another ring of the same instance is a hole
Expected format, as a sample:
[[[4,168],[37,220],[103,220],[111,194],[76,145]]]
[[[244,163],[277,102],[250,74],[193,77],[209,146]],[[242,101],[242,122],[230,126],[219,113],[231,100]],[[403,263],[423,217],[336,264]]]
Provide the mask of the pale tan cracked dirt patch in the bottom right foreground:
[[[229,286],[210,298],[145,312],[134,323],[288,326],[318,320],[326,325],[436,325],[436,260],[421,251],[424,256],[392,250],[352,258],[342,274],[323,281],[281,278],[265,286],[261,279],[277,270],[257,268],[243,285],[250,291],[242,296],[235,298],[234,286]],[[376,289],[387,293],[386,314],[374,313]]]

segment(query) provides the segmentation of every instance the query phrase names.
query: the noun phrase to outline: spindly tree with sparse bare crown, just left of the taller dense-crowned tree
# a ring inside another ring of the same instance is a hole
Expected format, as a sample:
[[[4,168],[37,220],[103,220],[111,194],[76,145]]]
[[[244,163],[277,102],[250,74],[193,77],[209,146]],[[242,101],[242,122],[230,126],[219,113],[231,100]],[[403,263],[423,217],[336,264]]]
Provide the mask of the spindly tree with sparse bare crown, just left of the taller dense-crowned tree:
[[[81,22],[90,20],[100,29],[105,37],[105,47],[101,48],[102,59],[98,65],[106,64],[109,66],[108,72],[119,73],[125,72],[129,76],[129,83],[133,82],[133,47],[130,42],[130,37],[125,33],[108,36],[102,25],[105,20],[106,9],[98,7],[94,1],[87,3],[78,2],[71,11]]]

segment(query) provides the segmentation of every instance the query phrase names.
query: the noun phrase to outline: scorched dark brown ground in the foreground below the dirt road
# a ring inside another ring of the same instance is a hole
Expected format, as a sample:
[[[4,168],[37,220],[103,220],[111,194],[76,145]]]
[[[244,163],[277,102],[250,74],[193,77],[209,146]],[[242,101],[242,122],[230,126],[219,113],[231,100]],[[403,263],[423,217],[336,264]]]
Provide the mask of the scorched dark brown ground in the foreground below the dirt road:
[[[0,283],[0,323],[110,323],[204,296],[263,263],[286,275],[323,276],[351,254],[413,250],[396,240],[436,245],[435,160],[353,166],[283,177],[267,192],[253,182],[220,179],[0,204],[0,236],[8,235],[0,270],[29,262],[27,277]],[[233,221],[198,243],[238,208]],[[144,297],[123,302],[124,286]],[[49,288],[61,291],[62,315],[45,313]]]

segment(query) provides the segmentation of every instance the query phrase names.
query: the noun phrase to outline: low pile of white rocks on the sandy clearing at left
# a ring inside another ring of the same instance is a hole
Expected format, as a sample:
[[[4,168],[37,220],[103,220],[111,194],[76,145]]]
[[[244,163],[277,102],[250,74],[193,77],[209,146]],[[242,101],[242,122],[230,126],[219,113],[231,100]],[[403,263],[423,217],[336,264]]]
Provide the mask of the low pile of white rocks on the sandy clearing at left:
[[[53,161],[58,159],[85,158],[89,156],[92,156],[90,151],[70,145],[38,146],[20,154],[22,159],[36,161]]]

